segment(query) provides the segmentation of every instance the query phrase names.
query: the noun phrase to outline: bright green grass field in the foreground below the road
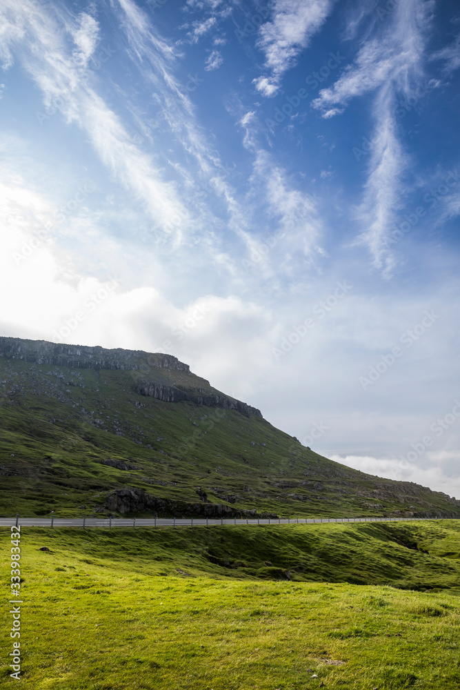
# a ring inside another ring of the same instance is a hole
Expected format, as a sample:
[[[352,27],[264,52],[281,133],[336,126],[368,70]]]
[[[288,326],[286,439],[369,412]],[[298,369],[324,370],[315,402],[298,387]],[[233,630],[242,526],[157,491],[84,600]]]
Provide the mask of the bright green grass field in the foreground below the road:
[[[458,690],[459,555],[454,520],[23,529],[22,687]]]

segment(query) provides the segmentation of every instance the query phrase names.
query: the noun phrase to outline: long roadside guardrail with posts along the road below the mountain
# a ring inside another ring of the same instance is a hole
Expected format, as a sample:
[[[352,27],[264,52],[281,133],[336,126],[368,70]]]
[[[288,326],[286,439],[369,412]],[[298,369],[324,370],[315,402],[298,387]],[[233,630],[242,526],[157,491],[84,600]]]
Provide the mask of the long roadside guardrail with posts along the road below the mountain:
[[[246,524],[322,524],[325,522],[407,522],[414,520],[459,520],[455,517],[268,517],[239,518],[217,520],[210,517],[0,517],[0,527],[198,527],[212,525],[246,525]]]

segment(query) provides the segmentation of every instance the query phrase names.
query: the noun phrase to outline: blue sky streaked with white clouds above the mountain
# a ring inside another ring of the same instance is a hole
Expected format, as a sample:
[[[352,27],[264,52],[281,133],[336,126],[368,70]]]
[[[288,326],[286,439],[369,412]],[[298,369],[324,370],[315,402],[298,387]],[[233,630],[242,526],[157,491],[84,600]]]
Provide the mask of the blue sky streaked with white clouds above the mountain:
[[[460,8],[1,0],[0,334],[460,497]]]

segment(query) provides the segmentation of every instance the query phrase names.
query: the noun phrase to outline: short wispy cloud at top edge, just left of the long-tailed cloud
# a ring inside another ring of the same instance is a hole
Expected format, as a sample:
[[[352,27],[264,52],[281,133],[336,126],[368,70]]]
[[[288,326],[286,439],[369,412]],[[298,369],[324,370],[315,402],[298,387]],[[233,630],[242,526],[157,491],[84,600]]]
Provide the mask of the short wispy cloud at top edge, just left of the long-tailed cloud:
[[[299,52],[321,28],[333,0],[275,0],[272,20],[259,29],[257,47],[265,53],[269,75],[254,79],[263,96],[274,96],[284,72],[295,63]]]

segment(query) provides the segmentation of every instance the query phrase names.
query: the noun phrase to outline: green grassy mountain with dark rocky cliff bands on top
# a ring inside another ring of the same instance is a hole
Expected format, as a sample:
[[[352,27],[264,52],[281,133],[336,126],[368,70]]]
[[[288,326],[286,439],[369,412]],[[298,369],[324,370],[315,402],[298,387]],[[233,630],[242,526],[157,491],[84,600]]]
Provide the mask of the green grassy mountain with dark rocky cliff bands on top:
[[[305,448],[172,355],[0,337],[3,515],[459,517]]]

